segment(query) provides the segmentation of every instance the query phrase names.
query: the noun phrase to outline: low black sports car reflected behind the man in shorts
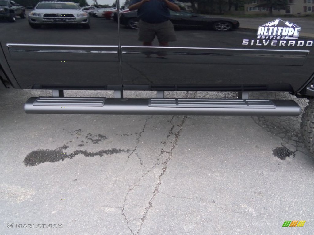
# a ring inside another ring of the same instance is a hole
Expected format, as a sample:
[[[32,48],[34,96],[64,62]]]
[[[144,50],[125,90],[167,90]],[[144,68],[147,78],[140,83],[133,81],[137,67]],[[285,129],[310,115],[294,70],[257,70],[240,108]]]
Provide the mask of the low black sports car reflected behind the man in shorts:
[[[228,31],[237,29],[240,25],[239,21],[234,19],[207,17],[187,11],[170,11],[170,14],[170,20],[175,29],[214,29],[217,31]],[[137,29],[137,11],[120,13],[120,24],[131,29]]]

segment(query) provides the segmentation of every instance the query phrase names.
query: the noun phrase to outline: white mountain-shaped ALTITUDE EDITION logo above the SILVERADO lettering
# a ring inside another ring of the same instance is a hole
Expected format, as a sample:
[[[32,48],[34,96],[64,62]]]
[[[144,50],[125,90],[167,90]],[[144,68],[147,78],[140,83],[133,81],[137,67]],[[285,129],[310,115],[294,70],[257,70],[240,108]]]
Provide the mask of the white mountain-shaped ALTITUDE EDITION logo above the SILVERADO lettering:
[[[267,36],[272,38],[281,39],[297,39],[299,37],[299,31],[301,27],[296,24],[284,21],[281,19],[275,19],[272,22],[268,22],[258,27],[257,36]]]

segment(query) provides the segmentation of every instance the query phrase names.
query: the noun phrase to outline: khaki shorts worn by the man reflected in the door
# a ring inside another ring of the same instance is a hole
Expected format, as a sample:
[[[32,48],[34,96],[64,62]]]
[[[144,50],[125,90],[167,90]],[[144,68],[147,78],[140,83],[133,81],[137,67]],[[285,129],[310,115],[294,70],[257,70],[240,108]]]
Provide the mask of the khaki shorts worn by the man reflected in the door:
[[[170,20],[162,23],[150,24],[142,20],[138,22],[138,40],[152,42],[157,36],[158,42],[176,41],[176,34]]]

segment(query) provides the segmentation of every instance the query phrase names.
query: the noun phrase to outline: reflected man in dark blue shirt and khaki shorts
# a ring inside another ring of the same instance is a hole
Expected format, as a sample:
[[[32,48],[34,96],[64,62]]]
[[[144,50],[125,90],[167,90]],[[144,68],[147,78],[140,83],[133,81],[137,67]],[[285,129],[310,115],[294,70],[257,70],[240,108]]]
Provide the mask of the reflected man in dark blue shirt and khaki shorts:
[[[180,11],[173,0],[131,1],[129,10],[138,10],[138,40],[143,42],[143,46],[152,46],[155,36],[160,46],[169,46],[169,42],[176,41],[169,9]]]

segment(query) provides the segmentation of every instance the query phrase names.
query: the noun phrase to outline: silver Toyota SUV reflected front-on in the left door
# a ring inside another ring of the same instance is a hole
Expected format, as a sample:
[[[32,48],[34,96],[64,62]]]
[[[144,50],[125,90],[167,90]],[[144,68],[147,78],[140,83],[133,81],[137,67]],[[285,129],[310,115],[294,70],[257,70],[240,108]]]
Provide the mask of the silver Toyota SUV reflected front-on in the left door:
[[[30,12],[29,24],[33,29],[47,24],[76,24],[89,29],[89,14],[76,3],[40,2]]]

